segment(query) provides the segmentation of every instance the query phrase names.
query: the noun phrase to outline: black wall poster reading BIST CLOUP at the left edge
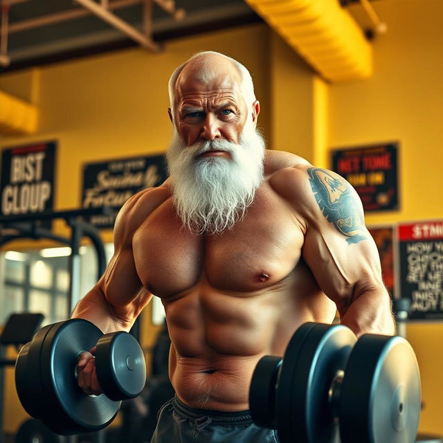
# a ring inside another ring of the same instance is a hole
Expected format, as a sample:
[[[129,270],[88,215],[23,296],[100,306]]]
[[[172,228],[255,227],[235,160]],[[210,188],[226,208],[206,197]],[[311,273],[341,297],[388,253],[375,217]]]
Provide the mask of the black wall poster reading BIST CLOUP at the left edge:
[[[55,141],[4,149],[1,154],[1,215],[53,209]]]

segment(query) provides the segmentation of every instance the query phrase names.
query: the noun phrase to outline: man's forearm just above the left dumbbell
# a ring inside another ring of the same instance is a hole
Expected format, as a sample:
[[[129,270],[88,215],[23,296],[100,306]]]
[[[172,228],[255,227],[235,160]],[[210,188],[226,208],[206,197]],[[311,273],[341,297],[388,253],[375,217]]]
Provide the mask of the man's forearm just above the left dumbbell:
[[[71,318],[83,318],[101,329],[103,334],[131,329],[132,323],[118,318],[99,286],[93,287],[73,310]]]

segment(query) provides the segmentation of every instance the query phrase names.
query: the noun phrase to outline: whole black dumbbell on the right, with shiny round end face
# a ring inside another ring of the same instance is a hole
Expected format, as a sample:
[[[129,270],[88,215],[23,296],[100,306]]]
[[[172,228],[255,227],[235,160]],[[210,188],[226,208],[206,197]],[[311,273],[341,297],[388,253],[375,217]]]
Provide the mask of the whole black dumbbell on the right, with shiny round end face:
[[[417,359],[399,336],[305,323],[283,359],[264,356],[249,391],[253,422],[280,443],[413,443],[421,406]]]

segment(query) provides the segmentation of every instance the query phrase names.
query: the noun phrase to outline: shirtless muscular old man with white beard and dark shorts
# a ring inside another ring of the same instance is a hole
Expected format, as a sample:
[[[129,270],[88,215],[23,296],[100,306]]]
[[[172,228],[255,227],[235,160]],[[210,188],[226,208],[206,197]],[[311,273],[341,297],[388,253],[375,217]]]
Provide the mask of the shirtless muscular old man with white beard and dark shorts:
[[[262,356],[282,355],[302,323],[331,323],[336,309],[357,336],[395,332],[356,192],[265,150],[259,111],[251,75],[225,55],[199,53],[174,71],[170,177],[120,210],[114,257],[73,313],[127,331],[161,298],[177,395],[153,442],[275,442],[248,415]],[[93,356],[79,367],[84,391],[100,393]]]

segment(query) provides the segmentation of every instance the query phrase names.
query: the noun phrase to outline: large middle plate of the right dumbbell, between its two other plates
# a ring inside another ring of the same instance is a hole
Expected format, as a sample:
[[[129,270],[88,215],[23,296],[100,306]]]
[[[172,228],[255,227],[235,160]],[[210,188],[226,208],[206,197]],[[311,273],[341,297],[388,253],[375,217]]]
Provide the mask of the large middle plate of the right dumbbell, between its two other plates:
[[[277,392],[281,443],[333,442],[338,436],[329,390],[356,336],[347,327],[305,323],[284,354]]]

